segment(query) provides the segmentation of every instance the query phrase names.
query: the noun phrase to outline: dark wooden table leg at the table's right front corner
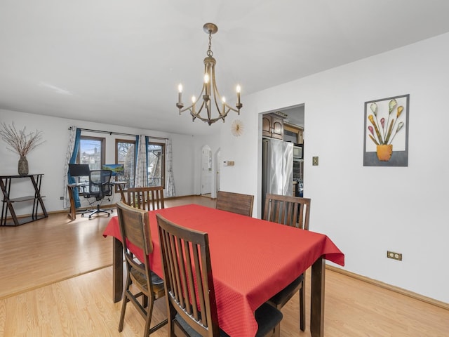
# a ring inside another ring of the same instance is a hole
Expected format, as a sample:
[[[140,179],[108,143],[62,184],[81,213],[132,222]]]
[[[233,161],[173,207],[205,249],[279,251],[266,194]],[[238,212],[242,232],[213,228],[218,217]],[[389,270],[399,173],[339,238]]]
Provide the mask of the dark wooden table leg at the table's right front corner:
[[[310,332],[312,337],[324,336],[324,283],[326,263],[318,258],[311,266]]]

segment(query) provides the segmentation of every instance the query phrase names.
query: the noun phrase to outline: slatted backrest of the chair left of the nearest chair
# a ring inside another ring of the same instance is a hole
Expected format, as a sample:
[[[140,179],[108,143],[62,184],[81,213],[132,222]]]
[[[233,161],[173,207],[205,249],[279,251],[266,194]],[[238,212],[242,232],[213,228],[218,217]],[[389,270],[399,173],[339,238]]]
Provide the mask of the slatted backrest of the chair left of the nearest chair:
[[[134,207],[124,204],[122,201],[116,203],[117,216],[119,218],[120,234],[123,243],[123,253],[125,255],[126,264],[128,270],[134,268],[138,270],[141,275],[145,275],[147,279],[147,291],[152,293],[152,277],[151,268],[149,265],[149,253],[153,251],[153,244],[151,234],[149,232],[149,220],[148,212],[141,209],[135,209]],[[144,252],[144,260],[138,260],[129,246],[133,246],[142,249]],[[130,273],[130,277],[133,278],[137,274]],[[139,284],[138,280],[133,279],[134,284]]]

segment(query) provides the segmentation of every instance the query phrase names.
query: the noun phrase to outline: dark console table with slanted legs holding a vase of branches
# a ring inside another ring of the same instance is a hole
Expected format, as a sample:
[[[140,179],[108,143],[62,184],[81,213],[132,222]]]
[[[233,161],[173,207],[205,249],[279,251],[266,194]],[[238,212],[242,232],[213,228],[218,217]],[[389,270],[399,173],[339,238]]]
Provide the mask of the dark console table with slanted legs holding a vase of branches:
[[[48,213],[43,205],[43,196],[41,196],[41,182],[43,174],[29,174],[27,176],[0,176],[0,187],[3,192],[3,205],[1,207],[1,226],[18,226],[24,223],[31,223],[42,218],[47,218]],[[24,197],[11,198],[11,181],[13,179],[29,179],[34,187],[34,195],[27,195]],[[33,211],[31,216],[18,218],[14,211],[14,204],[22,201],[33,201]],[[41,206],[42,212],[38,214],[37,211]],[[8,211],[11,214],[13,222],[7,222]]]

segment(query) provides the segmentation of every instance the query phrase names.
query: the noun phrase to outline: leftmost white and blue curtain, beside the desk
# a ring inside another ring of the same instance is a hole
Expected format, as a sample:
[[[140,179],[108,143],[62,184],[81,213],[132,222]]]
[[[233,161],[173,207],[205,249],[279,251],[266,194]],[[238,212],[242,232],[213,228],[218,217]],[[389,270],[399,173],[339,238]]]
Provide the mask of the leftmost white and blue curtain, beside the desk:
[[[67,147],[67,153],[65,155],[65,169],[64,169],[64,191],[62,191],[62,195],[64,195],[64,208],[68,209],[70,207],[70,199],[69,193],[67,191],[67,185],[76,183],[74,177],[70,176],[69,173],[69,164],[74,164],[76,162],[76,157],[78,156],[79,151],[79,139],[81,138],[81,128],[76,128],[76,126],[72,126],[70,128],[69,135],[69,146]],[[74,188],[73,197],[75,201],[75,207],[81,206],[81,201],[79,200],[78,189]]]

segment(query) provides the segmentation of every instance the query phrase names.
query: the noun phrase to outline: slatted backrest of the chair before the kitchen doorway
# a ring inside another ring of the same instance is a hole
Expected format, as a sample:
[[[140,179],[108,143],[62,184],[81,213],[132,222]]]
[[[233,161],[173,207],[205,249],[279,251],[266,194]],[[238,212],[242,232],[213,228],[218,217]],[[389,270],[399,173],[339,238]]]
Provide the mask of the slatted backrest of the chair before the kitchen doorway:
[[[264,220],[309,230],[310,199],[267,194]]]

